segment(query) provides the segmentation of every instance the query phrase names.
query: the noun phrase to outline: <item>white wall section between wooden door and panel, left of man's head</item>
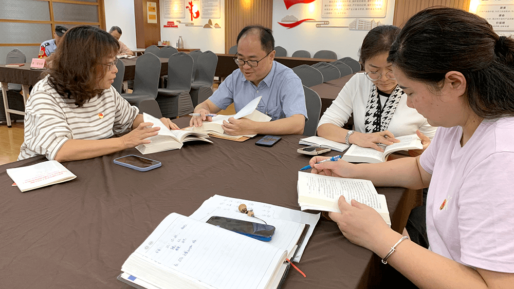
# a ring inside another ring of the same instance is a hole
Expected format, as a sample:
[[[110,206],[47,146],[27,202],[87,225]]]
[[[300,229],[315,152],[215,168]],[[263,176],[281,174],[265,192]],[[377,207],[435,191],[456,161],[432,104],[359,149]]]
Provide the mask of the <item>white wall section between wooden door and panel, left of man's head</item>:
[[[187,1],[185,1],[187,4]],[[170,41],[170,45],[176,47],[178,36],[182,36],[184,48],[199,48],[201,51],[211,50],[214,53],[225,53],[225,1],[221,0],[221,18],[211,18],[212,24],[219,24],[221,28],[204,28],[203,26],[209,21],[208,18],[202,18],[201,15],[197,19],[191,21],[190,13],[186,10],[185,18],[164,18],[164,1],[160,0],[160,23],[161,23],[161,40]],[[184,7],[186,9],[186,7]],[[178,24],[178,21],[194,23],[198,26],[186,26]],[[178,28],[165,28],[168,21],[175,22]]]

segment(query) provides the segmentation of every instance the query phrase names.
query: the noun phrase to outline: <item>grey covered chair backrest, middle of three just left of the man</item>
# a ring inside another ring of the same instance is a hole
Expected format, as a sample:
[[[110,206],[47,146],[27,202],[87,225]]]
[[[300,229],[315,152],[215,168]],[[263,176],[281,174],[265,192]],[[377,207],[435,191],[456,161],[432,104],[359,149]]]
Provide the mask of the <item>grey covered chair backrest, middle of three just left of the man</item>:
[[[171,55],[168,61],[168,86],[166,88],[189,92],[193,63],[193,57],[185,52]]]

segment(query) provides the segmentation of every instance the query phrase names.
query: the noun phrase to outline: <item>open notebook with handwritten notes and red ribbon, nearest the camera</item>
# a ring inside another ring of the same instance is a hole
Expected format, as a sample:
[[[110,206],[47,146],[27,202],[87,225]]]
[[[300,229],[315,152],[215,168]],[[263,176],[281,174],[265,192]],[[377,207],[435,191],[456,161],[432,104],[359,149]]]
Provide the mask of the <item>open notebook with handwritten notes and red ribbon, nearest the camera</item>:
[[[172,213],[128,257],[118,279],[152,289],[272,289],[287,255],[284,248]]]

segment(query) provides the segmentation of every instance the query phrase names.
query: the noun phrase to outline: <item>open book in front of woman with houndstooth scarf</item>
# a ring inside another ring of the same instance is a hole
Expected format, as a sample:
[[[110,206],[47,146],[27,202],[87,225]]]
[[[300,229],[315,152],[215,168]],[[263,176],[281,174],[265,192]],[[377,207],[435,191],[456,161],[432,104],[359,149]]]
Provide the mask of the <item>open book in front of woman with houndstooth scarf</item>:
[[[384,152],[380,152],[374,148],[360,147],[353,144],[344,153],[342,159],[352,163],[382,163],[385,162],[387,157],[395,151],[423,148],[421,140],[416,136],[416,134],[397,137],[396,139],[400,140],[400,142],[392,145],[378,144]]]

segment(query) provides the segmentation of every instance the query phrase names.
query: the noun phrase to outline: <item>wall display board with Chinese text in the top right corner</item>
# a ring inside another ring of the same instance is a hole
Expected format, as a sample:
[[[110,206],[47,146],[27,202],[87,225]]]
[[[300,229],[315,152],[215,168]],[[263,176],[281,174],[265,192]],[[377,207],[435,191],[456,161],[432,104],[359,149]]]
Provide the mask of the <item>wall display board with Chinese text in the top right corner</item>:
[[[495,31],[514,31],[514,1],[472,1],[470,12],[485,18]]]

